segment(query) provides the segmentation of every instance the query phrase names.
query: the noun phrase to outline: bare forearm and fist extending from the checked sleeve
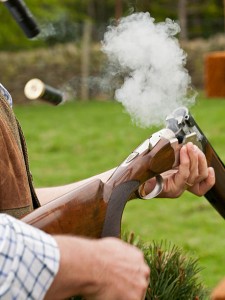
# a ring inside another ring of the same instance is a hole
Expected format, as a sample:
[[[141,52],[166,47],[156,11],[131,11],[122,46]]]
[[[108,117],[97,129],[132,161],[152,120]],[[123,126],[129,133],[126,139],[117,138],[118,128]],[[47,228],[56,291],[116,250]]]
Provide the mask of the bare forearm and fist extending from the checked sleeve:
[[[136,247],[116,238],[55,237],[59,272],[45,300],[83,295],[85,299],[144,299],[150,271]]]

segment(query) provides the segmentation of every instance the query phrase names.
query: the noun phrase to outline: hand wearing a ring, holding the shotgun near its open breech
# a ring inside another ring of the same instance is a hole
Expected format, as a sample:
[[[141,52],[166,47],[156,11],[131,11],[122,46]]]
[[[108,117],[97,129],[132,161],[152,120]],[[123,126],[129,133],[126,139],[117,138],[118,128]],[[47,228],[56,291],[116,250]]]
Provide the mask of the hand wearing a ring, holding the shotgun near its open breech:
[[[177,198],[185,190],[203,196],[215,184],[213,168],[207,167],[204,153],[190,142],[180,150],[179,167],[161,175],[164,186],[163,191],[158,195],[160,198]],[[152,190],[154,184],[153,180],[146,183],[146,194]]]

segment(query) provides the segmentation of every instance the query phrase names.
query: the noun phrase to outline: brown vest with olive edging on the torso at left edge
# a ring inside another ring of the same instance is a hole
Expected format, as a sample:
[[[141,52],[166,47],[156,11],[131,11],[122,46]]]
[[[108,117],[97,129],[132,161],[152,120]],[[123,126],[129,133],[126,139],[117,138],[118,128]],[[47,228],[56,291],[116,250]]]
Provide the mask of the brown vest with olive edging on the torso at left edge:
[[[25,139],[0,93],[0,212],[21,218],[40,206],[29,171]]]

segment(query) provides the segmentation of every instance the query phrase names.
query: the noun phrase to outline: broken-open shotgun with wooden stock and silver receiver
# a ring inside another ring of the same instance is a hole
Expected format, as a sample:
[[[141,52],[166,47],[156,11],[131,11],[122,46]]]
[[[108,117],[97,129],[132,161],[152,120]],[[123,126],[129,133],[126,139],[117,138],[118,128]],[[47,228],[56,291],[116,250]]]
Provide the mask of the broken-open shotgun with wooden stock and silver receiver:
[[[22,220],[50,234],[74,234],[101,238],[120,236],[124,207],[134,193],[142,199],[162,190],[161,173],[179,165],[180,148],[193,142],[206,155],[216,173],[216,184],[205,198],[225,218],[224,164],[186,107],[166,118],[166,127],[152,134],[114,170],[106,182],[93,179],[75,190],[34,210]],[[149,195],[141,187],[155,177]],[[137,197],[136,197],[137,198]]]

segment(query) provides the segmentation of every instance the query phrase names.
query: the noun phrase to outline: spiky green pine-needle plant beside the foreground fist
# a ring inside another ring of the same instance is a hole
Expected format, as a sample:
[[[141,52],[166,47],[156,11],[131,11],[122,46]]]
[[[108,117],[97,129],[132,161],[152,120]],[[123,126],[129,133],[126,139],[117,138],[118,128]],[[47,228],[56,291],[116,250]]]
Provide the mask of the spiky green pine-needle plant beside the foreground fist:
[[[144,243],[133,233],[124,240],[140,248],[150,267],[150,282],[145,300],[204,300],[208,291],[201,283],[198,260],[167,241]]]

